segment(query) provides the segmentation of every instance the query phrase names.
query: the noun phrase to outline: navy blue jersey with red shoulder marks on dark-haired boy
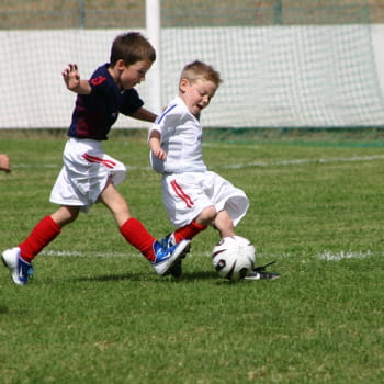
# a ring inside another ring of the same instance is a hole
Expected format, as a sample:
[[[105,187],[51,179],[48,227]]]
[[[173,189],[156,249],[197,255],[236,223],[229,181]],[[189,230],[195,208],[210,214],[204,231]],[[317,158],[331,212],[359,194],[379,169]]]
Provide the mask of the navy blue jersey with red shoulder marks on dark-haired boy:
[[[144,104],[135,89],[121,91],[110,72],[109,64],[91,76],[90,94],[78,94],[68,136],[106,140],[118,113],[131,115]]]

